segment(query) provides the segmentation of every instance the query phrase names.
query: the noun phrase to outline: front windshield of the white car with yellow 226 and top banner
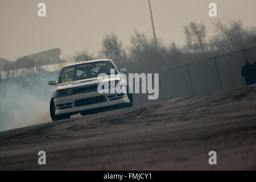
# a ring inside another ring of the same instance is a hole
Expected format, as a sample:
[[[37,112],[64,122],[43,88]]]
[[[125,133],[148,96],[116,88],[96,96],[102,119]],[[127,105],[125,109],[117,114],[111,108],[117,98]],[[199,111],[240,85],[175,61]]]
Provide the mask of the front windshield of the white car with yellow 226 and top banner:
[[[110,75],[110,69],[115,69],[110,61],[96,61],[92,63],[82,63],[63,68],[60,73],[59,83],[82,80],[97,77],[101,73]],[[117,71],[115,70],[115,74]]]

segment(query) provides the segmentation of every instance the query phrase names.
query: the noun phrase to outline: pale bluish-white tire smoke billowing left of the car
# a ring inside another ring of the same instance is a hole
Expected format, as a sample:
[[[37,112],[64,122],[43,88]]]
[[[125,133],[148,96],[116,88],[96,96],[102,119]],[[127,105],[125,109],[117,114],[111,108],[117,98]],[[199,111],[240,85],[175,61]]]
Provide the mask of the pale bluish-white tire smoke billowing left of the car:
[[[0,82],[0,131],[49,122],[52,86],[57,73],[10,78]]]

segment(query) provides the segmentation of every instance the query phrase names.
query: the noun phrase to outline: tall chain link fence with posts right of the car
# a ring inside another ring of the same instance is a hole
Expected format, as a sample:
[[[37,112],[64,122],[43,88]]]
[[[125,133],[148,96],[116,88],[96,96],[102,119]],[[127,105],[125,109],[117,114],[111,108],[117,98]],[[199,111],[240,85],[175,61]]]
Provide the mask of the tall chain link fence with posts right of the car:
[[[256,46],[193,61],[159,73],[158,100],[148,100],[147,94],[133,94],[134,105],[144,105],[174,98],[216,92],[244,86],[241,75],[245,57],[256,61]],[[154,81],[154,78],[152,78]]]

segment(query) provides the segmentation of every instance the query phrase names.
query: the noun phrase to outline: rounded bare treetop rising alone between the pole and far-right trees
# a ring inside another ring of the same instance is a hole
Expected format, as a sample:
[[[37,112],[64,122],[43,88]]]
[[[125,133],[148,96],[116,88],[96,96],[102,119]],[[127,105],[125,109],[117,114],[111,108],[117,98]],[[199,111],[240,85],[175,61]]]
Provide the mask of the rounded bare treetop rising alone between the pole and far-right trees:
[[[186,35],[187,46],[197,51],[198,49],[201,52],[205,52],[205,34],[206,28],[205,24],[197,24],[195,22],[190,22],[187,26],[184,27],[184,32]]]

